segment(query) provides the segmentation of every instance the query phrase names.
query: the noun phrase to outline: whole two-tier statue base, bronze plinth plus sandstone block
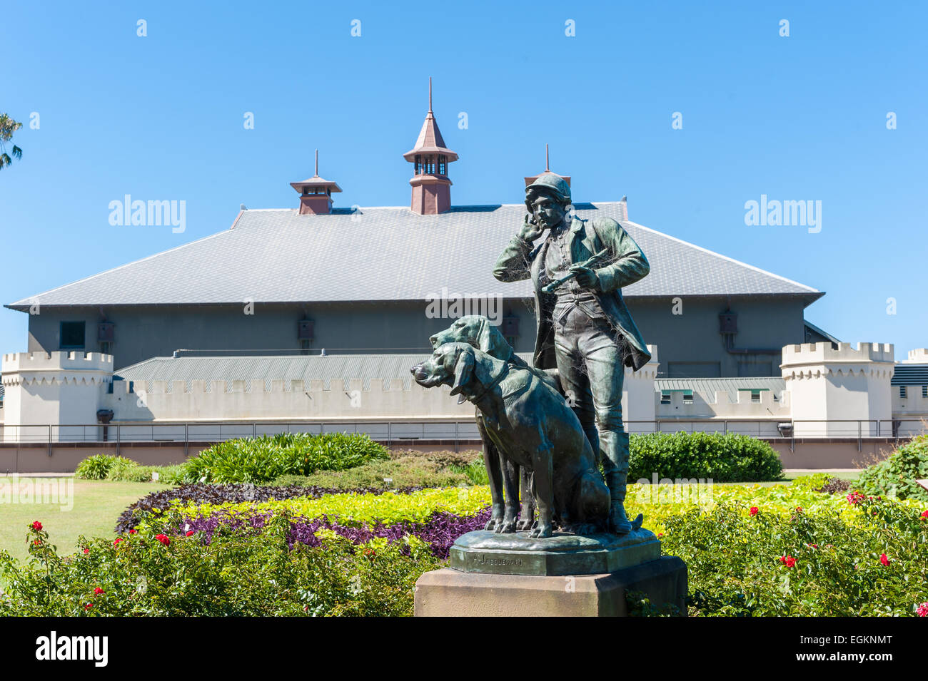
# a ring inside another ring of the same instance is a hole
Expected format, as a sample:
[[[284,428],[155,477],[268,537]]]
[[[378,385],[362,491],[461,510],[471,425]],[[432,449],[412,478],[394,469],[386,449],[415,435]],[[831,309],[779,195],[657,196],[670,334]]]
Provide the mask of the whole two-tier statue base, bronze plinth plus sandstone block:
[[[625,594],[686,614],[687,566],[661,556],[648,530],[625,536],[470,532],[451,549],[451,567],[416,583],[417,617],[623,617]]]

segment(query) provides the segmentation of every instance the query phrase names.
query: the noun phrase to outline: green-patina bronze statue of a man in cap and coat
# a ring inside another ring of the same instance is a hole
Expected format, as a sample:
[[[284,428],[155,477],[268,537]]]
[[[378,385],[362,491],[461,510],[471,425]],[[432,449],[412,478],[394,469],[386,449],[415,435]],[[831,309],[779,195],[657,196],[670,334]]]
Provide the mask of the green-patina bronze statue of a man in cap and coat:
[[[553,172],[525,188],[522,229],[496,262],[501,282],[532,278],[535,284],[535,367],[557,367],[561,387],[583,424],[610,491],[610,530],[631,531],[625,515],[628,434],[622,422],[625,366],[640,369],[651,354],[625,307],[621,288],[644,277],[650,266],[638,244],[612,218],[567,221],[570,185]],[[533,242],[545,231],[544,242]],[[583,266],[606,249],[601,267]],[[594,269],[595,268],[595,269]],[[543,286],[573,274],[552,293]],[[597,432],[599,425],[599,434]]]

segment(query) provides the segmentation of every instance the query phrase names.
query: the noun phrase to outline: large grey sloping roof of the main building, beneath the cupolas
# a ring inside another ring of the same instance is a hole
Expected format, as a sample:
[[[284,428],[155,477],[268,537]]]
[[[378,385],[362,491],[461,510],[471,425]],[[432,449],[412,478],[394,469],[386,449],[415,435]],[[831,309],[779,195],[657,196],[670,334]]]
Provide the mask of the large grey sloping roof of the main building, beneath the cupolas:
[[[522,223],[522,205],[466,206],[441,215],[409,208],[244,210],[232,228],[7,307],[531,296],[531,284],[493,277],[500,251]],[[577,204],[580,218],[621,221],[651,262],[626,296],[822,294],[625,220],[625,203]]]

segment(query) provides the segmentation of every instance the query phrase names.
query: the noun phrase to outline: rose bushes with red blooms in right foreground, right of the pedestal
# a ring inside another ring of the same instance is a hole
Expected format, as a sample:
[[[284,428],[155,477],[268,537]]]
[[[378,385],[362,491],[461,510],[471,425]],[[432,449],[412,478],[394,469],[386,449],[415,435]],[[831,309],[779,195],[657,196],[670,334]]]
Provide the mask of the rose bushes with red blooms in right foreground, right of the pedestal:
[[[850,514],[826,507],[784,515],[720,503],[666,519],[662,548],[687,563],[690,614],[928,610],[928,518],[888,499],[842,500]]]

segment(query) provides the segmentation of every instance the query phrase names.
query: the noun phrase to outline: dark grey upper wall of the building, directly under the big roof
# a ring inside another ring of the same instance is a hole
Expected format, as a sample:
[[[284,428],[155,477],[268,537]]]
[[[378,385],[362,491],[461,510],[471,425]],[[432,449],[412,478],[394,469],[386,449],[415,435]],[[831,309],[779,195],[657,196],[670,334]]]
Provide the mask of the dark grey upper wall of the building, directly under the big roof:
[[[674,314],[672,298],[627,301],[638,329],[649,345],[661,348],[661,376],[779,375],[780,355],[733,354],[718,333],[718,315],[730,309],[738,313],[737,347],[780,348],[804,340],[803,303],[793,296],[683,298],[682,314]],[[520,319],[515,348],[531,352],[535,347],[535,311],[531,300],[503,301],[497,318]],[[678,310],[679,311],[679,310]],[[158,306],[106,308],[115,323],[112,347],[117,370],[150,357],[170,356],[175,349],[245,350],[297,349],[297,321],[305,316],[315,323],[311,347],[333,352],[428,352],[430,335],[444,329],[450,319],[427,316],[426,301],[374,303],[314,303],[283,305],[255,303],[253,314],[245,304],[227,306]],[[48,308],[29,320],[29,351],[51,352],[60,347],[60,322],[86,324],[87,351],[98,351],[97,308]]]

